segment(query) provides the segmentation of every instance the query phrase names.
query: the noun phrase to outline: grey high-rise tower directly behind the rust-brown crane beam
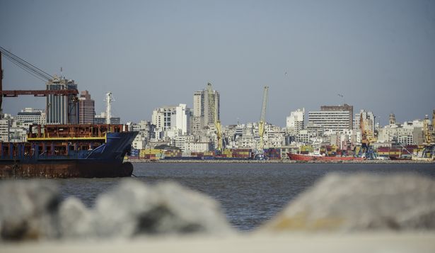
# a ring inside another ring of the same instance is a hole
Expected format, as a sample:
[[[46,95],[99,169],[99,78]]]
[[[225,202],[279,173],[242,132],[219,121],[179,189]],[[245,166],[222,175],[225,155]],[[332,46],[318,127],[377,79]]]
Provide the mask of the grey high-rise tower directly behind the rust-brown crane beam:
[[[77,89],[74,80],[54,76],[47,82],[47,90]],[[47,124],[79,123],[79,106],[74,95],[47,96]]]

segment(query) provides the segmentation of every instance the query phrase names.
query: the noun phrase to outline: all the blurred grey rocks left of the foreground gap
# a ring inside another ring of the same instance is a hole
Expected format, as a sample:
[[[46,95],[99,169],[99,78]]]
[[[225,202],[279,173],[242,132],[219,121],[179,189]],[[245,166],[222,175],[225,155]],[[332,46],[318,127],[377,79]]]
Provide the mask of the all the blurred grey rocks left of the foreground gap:
[[[49,181],[2,181],[2,240],[84,240],[140,235],[231,234],[219,203],[174,183],[126,179],[98,196],[94,208],[61,201]]]

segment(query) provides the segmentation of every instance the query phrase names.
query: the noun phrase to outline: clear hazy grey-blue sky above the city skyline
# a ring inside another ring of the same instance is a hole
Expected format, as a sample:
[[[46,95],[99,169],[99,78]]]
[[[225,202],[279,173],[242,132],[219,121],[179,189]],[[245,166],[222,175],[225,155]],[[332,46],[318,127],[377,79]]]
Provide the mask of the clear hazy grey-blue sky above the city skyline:
[[[385,125],[435,109],[435,1],[6,1],[0,46],[88,90],[122,122],[186,103],[211,82],[221,122],[284,126],[297,108],[349,103]],[[3,58],[3,89],[45,89]],[[338,96],[342,94],[344,96]],[[4,113],[45,108],[5,98]],[[308,118],[308,113],[306,113]]]

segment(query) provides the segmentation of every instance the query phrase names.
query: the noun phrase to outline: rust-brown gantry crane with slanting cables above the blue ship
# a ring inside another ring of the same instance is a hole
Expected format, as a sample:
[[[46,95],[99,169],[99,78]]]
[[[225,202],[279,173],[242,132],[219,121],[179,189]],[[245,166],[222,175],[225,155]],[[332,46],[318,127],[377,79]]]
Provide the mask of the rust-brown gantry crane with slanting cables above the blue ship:
[[[14,55],[13,53],[9,52],[8,50],[4,49],[3,47],[0,47],[0,112],[1,112],[1,106],[3,103],[4,97],[17,97],[21,95],[33,95],[33,96],[47,96],[47,95],[58,95],[58,96],[70,96],[71,95],[71,101],[69,103],[77,103],[77,95],[79,94],[79,91],[76,89],[61,89],[61,90],[11,90],[11,91],[4,91],[3,90],[3,69],[1,68],[1,57],[4,56],[7,60],[10,60],[13,64],[16,64],[18,67],[23,69],[25,72],[28,72],[29,74],[33,75],[37,79],[40,79],[42,81],[50,81],[55,80],[56,77],[52,77],[52,75],[48,74],[47,72],[43,71],[42,69],[39,69],[35,67],[33,64],[30,64],[29,62],[26,62],[25,60],[21,59],[20,57]],[[70,115],[71,114],[71,115]],[[71,120],[71,116],[73,115],[73,112],[69,112],[68,120]],[[0,115],[0,118],[2,116]]]

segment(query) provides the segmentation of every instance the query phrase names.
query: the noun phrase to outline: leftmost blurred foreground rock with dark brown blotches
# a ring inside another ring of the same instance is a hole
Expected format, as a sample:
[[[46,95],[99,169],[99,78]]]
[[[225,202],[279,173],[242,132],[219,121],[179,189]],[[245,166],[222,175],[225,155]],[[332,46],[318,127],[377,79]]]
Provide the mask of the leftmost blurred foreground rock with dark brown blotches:
[[[0,183],[0,230],[3,240],[58,236],[53,214],[60,197],[50,181],[23,180]]]

